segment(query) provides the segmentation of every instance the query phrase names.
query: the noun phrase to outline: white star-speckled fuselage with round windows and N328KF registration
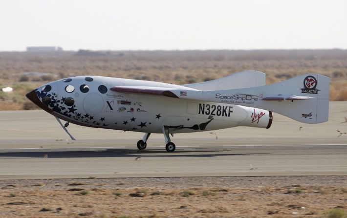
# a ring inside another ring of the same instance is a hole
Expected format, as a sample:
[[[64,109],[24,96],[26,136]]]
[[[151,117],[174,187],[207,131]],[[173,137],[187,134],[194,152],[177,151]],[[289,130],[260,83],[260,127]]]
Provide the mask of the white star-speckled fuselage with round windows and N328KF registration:
[[[165,125],[171,133],[189,133],[236,126],[268,128],[271,125],[272,115],[267,110],[110,90],[115,86],[189,89],[161,82],[79,76],[48,83],[36,89],[36,94],[54,116],[95,128],[162,133]]]

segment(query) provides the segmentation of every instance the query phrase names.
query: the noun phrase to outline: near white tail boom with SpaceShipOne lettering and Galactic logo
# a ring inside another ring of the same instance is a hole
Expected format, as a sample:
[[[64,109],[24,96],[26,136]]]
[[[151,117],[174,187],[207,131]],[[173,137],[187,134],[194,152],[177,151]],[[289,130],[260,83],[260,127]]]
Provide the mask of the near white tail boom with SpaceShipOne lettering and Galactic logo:
[[[329,78],[319,74],[260,87],[213,92],[211,97],[218,102],[265,109],[304,123],[328,120]]]

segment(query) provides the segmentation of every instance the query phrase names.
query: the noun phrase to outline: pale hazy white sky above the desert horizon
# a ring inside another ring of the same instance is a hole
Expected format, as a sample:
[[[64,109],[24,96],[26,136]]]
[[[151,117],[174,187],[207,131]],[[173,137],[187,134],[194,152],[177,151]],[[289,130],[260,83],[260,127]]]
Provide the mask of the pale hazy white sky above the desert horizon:
[[[0,50],[347,49],[347,0],[1,0]]]

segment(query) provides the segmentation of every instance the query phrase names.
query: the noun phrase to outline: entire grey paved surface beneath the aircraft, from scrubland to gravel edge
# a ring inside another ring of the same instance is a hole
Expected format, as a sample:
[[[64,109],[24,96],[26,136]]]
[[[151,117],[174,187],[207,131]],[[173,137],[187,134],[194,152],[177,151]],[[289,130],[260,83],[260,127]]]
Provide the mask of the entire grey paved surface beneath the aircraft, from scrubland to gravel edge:
[[[347,134],[337,132],[347,132],[344,117],[347,102],[330,102],[322,124],[275,114],[270,129],[176,134],[167,153],[161,134],[139,151],[142,133],[70,124],[72,141],[43,110],[3,111],[0,179],[347,175]]]

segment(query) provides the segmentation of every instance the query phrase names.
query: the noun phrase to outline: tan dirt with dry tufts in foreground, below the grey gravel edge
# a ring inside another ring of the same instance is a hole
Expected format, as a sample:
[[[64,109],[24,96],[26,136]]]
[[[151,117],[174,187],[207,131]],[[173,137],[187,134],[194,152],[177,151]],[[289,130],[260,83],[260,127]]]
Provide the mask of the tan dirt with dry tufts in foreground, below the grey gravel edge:
[[[54,187],[54,186],[53,186]],[[93,186],[89,184],[89,187]],[[220,187],[165,189],[156,188],[117,189],[103,187],[93,192],[66,192],[64,187],[50,190],[44,187],[31,190],[30,186],[17,187],[22,190],[16,198],[8,198],[10,192],[0,195],[0,217],[328,217],[346,216],[346,194],[341,188],[303,186],[304,193],[287,195],[283,186],[261,186],[255,189],[232,188],[228,192]],[[325,189],[322,198],[316,189]],[[194,194],[191,190],[194,190]],[[147,192],[161,193],[147,195]],[[87,192],[87,194],[82,194]],[[206,195],[204,195],[204,193]],[[213,193],[213,194],[211,194]],[[186,194],[186,195],[183,195]],[[120,198],[115,198],[120,197]],[[186,198],[184,198],[186,196]],[[140,197],[140,198],[134,198]],[[165,203],[170,202],[170,203]],[[56,209],[55,209],[56,208]]]

